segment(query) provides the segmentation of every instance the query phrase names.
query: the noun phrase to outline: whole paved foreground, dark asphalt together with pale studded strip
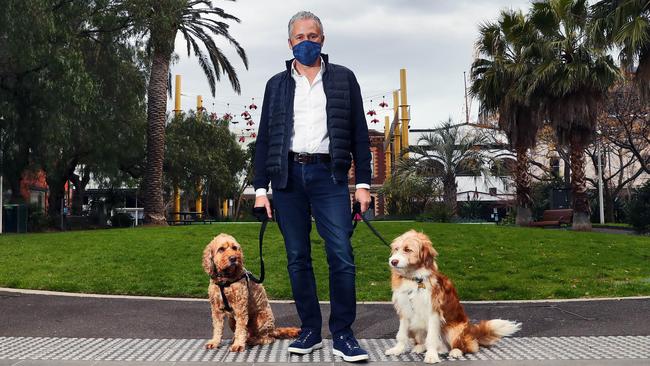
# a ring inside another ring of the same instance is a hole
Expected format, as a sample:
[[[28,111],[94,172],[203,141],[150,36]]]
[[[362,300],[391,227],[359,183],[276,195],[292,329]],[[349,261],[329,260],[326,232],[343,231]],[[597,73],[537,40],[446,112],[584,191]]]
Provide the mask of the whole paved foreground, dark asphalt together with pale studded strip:
[[[281,326],[297,325],[293,304],[272,305]],[[324,323],[329,306],[322,305]],[[647,365],[650,363],[650,298],[465,303],[473,320],[504,318],[523,323],[515,337],[467,355],[460,364]],[[355,333],[378,364],[421,361],[405,354],[386,357],[398,319],[390,304],[360,304]],[[332,364],[324,350],[289,357],[287,341],[231,354],[206,351],[211,335],[204,300],[157,300],[26,294],[0,289],[0,366],[111,363],[239,362]],[[324,336],[327,326],[323,326]],[[231,334],[227,333],[226,337]],[[443,357],[444,360],[444,357]]]

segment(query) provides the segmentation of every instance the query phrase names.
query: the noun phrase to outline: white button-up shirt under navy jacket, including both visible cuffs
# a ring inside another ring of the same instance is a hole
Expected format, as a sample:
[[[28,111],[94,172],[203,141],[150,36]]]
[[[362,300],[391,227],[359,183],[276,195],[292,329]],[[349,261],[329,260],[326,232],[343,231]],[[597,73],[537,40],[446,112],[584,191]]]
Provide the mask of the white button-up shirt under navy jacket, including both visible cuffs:
[[[291,67],[291,76],[296,82],[293,102],[293,131],[289,150],[297,153],[329,154],[330,139],[327,135],[327,97],[323,89],[325,62],[321,59],[320,70],[313,82],[301,75],[296,62]],[[357,189],[370,189],[370,185],[359,183]],[[258,188],[255,196],[266,195],[266,189]]]

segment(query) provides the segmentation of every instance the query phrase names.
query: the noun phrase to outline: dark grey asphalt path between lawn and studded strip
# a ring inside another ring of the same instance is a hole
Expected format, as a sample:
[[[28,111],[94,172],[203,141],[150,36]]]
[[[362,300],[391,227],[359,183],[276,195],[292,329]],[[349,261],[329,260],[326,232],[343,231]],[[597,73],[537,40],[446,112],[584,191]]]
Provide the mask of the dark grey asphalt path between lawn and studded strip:
[[[519,337],[650,335],[650,298],[569,302],[469,303],[472,320],[522,322]],[[323,336],[329,305],[323,304]],[[272,304],[279,326],[298,326],[291,303]],[[359,304],[358,338],[393,338],[391,304]],[[0,291],[0,336],[200,338],[211,337],[207,301],[93,298]],[[230,334],[227,334],[229,336]]]

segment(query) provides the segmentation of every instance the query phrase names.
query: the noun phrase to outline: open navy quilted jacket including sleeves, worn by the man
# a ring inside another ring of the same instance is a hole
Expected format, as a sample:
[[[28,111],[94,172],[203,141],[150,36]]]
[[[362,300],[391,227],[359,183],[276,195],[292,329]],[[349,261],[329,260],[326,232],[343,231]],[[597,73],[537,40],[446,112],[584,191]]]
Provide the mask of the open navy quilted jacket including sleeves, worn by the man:
[[[370,184],[370,146],[368,126],[363,110],[359,84],[349,69],[328,63],[323,73],[323,89],[327,98],[327,132],[330,140],[332,176],[347,181],[347,173],[355,162],[356,183]],[[266,84],[260,127],[255,144],[255,189],[273,189],[287,185],[289,144],[293,131],[295,80],[291,77],[293,60],[287,69],[273,76]]]

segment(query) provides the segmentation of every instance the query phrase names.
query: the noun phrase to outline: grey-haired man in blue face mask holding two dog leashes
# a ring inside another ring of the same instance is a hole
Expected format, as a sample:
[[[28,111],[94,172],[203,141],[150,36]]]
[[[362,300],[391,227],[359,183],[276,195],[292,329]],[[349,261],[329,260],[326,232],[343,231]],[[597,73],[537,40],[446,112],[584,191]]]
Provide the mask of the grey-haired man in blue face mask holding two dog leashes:
[[[291,289],[302,322],[289,352],[322,347],[322,317],[311,260],[311,216],[329,264],[333,352],[345,361],[368,359],[352,333],[356,317],[355,265],[348,170],[354,158],[355,200],[370,204],[370,147],[361,91],[354,74],[321,54],[320,19],[299,12],[289,21],[294,59],[266,84],[255,149],[255,207],[271,206],[284,237]]]

